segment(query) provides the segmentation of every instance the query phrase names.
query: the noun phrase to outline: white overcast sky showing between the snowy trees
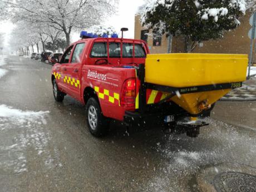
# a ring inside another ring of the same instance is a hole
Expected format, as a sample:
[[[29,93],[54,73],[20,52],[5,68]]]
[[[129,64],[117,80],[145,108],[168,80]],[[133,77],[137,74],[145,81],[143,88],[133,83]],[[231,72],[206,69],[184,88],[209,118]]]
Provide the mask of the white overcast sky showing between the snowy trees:
[[[127,27],[129,31],[124,33],[124,37],[134,38],[134,16],[137,8],[141,6],[143,2],[144,0],[120,0],[116,14],[106,18],[106,21],[102,24],[114,27],[118,33],[120,33],[122,27]],[[0,32],[4,32],[7,35],[11,33],[12,28],[12,23],[0,23]],[[78,39],[78,33],[72,35],[72,41],[77,41]]]

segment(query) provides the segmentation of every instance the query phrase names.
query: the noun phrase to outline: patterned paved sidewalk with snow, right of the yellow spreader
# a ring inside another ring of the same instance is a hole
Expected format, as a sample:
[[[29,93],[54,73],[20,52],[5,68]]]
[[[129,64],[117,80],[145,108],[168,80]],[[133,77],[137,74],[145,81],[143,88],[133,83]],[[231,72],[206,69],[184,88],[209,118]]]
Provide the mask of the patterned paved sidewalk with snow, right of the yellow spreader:
[[[235,88],[220,99],[221,101],[256,101],[256,77],[250,78],[240,88]]]

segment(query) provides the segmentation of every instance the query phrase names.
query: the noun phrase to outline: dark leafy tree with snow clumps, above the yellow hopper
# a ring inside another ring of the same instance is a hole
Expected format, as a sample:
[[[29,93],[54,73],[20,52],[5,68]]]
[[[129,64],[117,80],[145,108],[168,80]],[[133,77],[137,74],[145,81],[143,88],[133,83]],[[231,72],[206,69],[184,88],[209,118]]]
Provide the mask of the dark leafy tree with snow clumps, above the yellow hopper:
[[[141,24],[167,35],[183,35],[185,52],[200,41],[223,37],[224,31],[239,26],[246,0],[154,0],[146,3]]]

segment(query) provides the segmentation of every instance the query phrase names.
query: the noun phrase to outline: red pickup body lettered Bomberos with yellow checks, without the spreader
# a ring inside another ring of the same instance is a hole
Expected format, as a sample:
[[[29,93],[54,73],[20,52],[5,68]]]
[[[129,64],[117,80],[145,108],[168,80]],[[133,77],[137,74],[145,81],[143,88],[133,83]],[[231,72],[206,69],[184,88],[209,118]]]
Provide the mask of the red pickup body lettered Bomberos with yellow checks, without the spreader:
[[[142,40],[82,38],[72,43],[52,68],[56,101],[69,95],[86,105],[93,97],[106,119],[124,120],[125,111],[135,110],[134,67],[145,63],[147,54]]]

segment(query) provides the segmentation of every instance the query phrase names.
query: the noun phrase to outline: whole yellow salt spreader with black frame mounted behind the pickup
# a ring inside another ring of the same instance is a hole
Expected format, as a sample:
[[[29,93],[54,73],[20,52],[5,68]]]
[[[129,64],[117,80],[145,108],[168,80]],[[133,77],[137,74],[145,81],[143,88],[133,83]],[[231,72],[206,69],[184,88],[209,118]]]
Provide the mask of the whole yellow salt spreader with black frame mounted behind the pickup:
[[[247,55],[171,53],[147,55],[145,65],[137,67],[140,80],[139,118],[160,117],[175,131],[199,135],[208,125],[214,104],[246,80]],[[160,102],[147,104],[148,90],[162,92]],[[154,118],[153,118],[154,119]],[[182,128],[181,128],[182,127]]]

